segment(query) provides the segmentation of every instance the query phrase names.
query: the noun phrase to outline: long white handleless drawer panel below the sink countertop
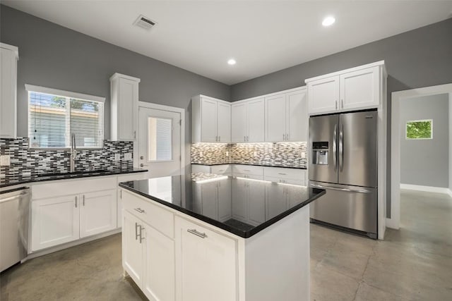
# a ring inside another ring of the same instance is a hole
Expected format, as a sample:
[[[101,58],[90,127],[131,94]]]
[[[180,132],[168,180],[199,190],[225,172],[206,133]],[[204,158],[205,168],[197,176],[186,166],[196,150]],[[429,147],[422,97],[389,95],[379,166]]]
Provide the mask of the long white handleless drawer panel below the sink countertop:
[[[33,184],[33,199],[57,197],[60,195],[78,195],[85,192],[109,190],[117,188],[117,177],[93,177],[83,180],[57,180],[46,184]]]

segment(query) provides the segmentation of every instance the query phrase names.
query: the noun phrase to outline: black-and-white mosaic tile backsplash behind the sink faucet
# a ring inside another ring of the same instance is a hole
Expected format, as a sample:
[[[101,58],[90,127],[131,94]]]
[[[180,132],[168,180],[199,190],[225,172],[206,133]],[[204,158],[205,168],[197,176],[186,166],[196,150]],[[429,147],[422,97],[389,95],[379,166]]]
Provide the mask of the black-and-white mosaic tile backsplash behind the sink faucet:
[[[80,149],[77,153],[76,171],[133,168],[133,160],[124,160],[126,153],[133,156],[133,142],[104,140],[102,149]],[[0,166],[0,180],[70,171],[69,150],[29,149],[28,138],[0,139],[0,154],[11,156],[9,166]],[[115,154],[120,154],[119,161],[114,160]]]

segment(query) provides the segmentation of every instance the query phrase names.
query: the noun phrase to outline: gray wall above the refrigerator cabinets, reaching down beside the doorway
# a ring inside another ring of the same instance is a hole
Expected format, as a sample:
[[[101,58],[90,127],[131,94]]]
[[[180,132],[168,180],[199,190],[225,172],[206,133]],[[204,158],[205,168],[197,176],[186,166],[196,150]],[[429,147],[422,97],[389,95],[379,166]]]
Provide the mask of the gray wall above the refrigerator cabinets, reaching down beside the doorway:
[[[400,35],[302,63],[231,87],[236,101],[304,85],[304,80],[384,60],[388,71],[388,121],[391,93],[452,82],[452,18]],[[386,216],[391,217],[391,124],[388,124]]]

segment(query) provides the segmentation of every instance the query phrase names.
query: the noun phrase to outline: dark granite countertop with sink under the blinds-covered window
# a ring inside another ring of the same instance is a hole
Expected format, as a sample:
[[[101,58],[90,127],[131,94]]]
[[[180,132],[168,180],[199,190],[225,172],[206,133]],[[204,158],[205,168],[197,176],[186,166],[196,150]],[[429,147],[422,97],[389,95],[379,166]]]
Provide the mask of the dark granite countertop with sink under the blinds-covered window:
[[[0,188],[19,185],[19,184],[27,184],[27,183],[35,183],[35,182],[43,182],[49,180],[66,180],[73,178],[88,178],[88,177],[98,177],[98,176],[113,176],[120,175],[122,173],[141,173],[144,171],[148,171],[147,169],[141,168],[126,168],[126,169],[103,169],[100,171],[75,171],[73,173],[42,173],[39,175],[33,175],[29,177],[17,177],[17,178],[1,178],[0,180]]]

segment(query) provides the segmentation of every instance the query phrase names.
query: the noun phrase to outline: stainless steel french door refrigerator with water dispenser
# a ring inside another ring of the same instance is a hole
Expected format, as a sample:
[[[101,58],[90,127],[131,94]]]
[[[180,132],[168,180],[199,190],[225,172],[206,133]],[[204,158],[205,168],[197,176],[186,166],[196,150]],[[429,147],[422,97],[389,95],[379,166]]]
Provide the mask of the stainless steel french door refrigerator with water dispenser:
[[[311,221],[377,238],[377,112],[309,118]]]

